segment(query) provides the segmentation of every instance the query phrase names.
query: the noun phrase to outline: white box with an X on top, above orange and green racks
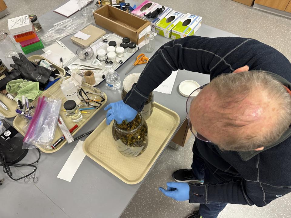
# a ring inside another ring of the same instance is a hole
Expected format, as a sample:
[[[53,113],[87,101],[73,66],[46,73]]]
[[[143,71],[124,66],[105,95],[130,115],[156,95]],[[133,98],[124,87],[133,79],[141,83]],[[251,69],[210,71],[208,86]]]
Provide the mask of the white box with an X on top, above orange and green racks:
[[[19,16],[7,20],[8,30],[12,35],[32,31],[32,23],[28,15]]]

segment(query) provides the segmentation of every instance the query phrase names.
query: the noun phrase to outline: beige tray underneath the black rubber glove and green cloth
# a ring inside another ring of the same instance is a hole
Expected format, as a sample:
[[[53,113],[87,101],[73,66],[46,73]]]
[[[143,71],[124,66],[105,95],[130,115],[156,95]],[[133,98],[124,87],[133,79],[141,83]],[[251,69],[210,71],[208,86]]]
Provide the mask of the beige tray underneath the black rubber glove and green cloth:
[[[48,59],[42,57],[41,55],[32,55],[28,58],[29,61],[33,61],[34,59],[45,59],[47,61],[49,61]],[[52,66],[54,68],[56,68],[61,75],[65,76],[66,71],[59,67],[57,64],[52,63],[51,61],[49,61]],[[57,77],[59,78],[59,76]],[[54,86],[55,84],[53,84],[52,86]],[[6,118],[11,118],[11,117],[15,117],[16,113],[15,113],[15,109],[17,107],[17,103],[16,101],[12,101],[11,99],[3,96],[2,94],[0,94],[0,100],[6,105],[6,107],[8,108],[8,111],[6,111],[3,107],[0,107],[0,113],[4,115],[4,117]]]

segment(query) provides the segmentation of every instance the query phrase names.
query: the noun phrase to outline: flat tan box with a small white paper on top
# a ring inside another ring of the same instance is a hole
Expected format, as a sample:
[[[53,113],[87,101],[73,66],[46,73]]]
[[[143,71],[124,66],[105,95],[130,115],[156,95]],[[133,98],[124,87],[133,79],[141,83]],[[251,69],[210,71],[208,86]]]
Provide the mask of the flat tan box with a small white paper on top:
[[[106,33],[104,30],[95,27],[91,24],[86,28],[82,29],[81,32],[90,35],[90,38],[87,40],[83,40],[75,36],[71,37],[72,42],[80,46],[89,46]]]

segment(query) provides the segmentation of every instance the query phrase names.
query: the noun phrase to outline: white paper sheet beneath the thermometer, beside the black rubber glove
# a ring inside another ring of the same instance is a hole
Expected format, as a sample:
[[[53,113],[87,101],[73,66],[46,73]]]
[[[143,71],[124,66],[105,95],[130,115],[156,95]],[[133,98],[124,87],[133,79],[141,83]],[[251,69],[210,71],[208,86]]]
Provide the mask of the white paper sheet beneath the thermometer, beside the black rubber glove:
[[[63,48],[58,43],[52,44],[44,49],[45,53],[42,57],[47,58],[49,61],[61,66],[61,57],[63,59],[63,64],[75,57],[75,54],[69,48]]]

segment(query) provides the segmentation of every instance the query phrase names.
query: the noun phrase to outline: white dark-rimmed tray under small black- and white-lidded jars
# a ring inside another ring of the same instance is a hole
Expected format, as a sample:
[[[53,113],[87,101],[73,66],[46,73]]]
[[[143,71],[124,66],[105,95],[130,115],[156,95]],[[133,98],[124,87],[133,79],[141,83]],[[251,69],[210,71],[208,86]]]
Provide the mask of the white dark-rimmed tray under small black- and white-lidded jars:
[[[118,35],[115,35],[113,33],[109,33],[109,34],[106,34],[103,36],[105,39],[109,41],[116,41],[116,47],[119,47],[120,43],[122,43],[122,37],[118,36]],[[74,58],[72,58],[71,60],[69,60],[67,63],[64,64],[64,67],[69,67],[71,69],[74,69],[77,67],[77,65],[73,65],[72,63],[74,64],[83,64],[83,65],[88,65],[88,66],[92,66],[92,67],[95,67],[95,68],[101,68],[102,70],[92,70],[94,75],[95,75],[95,80],[96,80],[96,83],[93,85],[93,86],[98,86],[102,81],[104,81],[105,79],[102,79],[102,75],[105,74],[108,72],[108,69],[105,68],[105,63],[104,61],[102,61],[102,66],[99,67],[99,66],[94,66],[92,64],[92,61],[93,60],[96,60],[96,57],[97,57],[97,51],[99,49],[104,49],[106,51],[106,48],[103,46],[103,37],[99,38],[97,41],[95,41],[92,45],[90,45],[90,47],[93,49],[94,51],[94,56],[91,60],[89,61],[82,61],[78,58],[78,55],[76,55]],[[139,50],[139,47],[138,45],[136,45],[138,50]],[[138,51],[137,50],[137,51]],[[135,51],[135,53],[137,52]],[[118,61],[122,60],[122,64],[124,64],[127,60],[129,60],[129,58],[132,57],[132,55],[134,55],[135,53],[125,53],[124,56],[122,58],[119,58],[116,56],[116,61],[115,63],[112,64],[112,66],[114,64],[116,64]],[[107,51],[106,51],[106,54],[107,54]],[[122,66],[122,64],[119,64],[117,65],[117,67],[114,68],[114,70],[117,70],[120,66]],[[85,68],[85,67],[82,67],[82,66],[79,66],[80,68]],[[70,74],[68,72],[68,74]],[[86,85],[89,85],[86,83]]]

